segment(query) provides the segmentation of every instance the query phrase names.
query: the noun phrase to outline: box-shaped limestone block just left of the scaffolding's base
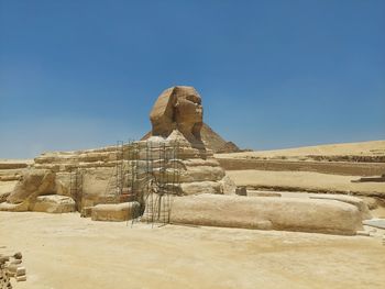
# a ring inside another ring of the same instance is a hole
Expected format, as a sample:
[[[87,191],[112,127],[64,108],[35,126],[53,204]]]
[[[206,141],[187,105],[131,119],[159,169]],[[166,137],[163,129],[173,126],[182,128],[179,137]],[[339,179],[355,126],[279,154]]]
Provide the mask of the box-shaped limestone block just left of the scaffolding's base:
[[[128,221],[140,213],[139,202],[97,204],[92,208],[92,221]]]

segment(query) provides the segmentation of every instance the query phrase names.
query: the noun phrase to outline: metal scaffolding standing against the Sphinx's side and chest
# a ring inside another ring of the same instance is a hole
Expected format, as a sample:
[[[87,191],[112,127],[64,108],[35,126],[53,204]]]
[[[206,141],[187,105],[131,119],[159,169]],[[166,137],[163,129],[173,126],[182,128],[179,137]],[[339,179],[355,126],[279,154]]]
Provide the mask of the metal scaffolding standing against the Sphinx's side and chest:
[[[106,202],[139,202],[130,210],[131,225],[141,219],[168,224],[172,199],[180,193],[178,151],[177,142],[117,142]]]

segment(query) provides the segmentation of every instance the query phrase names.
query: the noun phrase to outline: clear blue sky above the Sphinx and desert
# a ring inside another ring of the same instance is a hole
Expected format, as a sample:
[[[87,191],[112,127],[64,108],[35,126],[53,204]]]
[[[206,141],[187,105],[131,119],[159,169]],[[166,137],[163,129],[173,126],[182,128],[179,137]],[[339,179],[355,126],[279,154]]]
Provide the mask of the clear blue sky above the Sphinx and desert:
[[[139,138],[157,96],[255,149],[385,138],[385,1],[0,0],[0,158]]]

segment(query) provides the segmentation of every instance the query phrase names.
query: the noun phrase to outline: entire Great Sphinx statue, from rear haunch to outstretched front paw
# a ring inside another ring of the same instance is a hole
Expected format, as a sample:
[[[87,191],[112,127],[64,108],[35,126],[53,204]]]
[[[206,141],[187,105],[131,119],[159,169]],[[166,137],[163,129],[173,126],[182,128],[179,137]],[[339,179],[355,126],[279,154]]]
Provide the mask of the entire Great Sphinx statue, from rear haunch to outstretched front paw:
[[[45,153],[23,164],[4,176],[11,185],[0,186],[0,211],[333,234],[355,234],[370,218],[353,199],[237,196],[213,158],[221,146],[232,146],[204,123],[193,87],[163,91],[150,120],[152,130],[141,141]]]

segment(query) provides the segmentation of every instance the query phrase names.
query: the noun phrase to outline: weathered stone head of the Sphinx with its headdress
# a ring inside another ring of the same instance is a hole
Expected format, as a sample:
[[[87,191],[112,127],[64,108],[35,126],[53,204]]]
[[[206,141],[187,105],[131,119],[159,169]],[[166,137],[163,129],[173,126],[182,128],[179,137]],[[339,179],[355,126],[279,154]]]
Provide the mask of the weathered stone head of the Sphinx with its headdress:
[[[166,89],[156,100],[150,119],[153,135],[167,137],[176,129],[187,140],[200,141],[204,124],[201,98],[193,87]]]

